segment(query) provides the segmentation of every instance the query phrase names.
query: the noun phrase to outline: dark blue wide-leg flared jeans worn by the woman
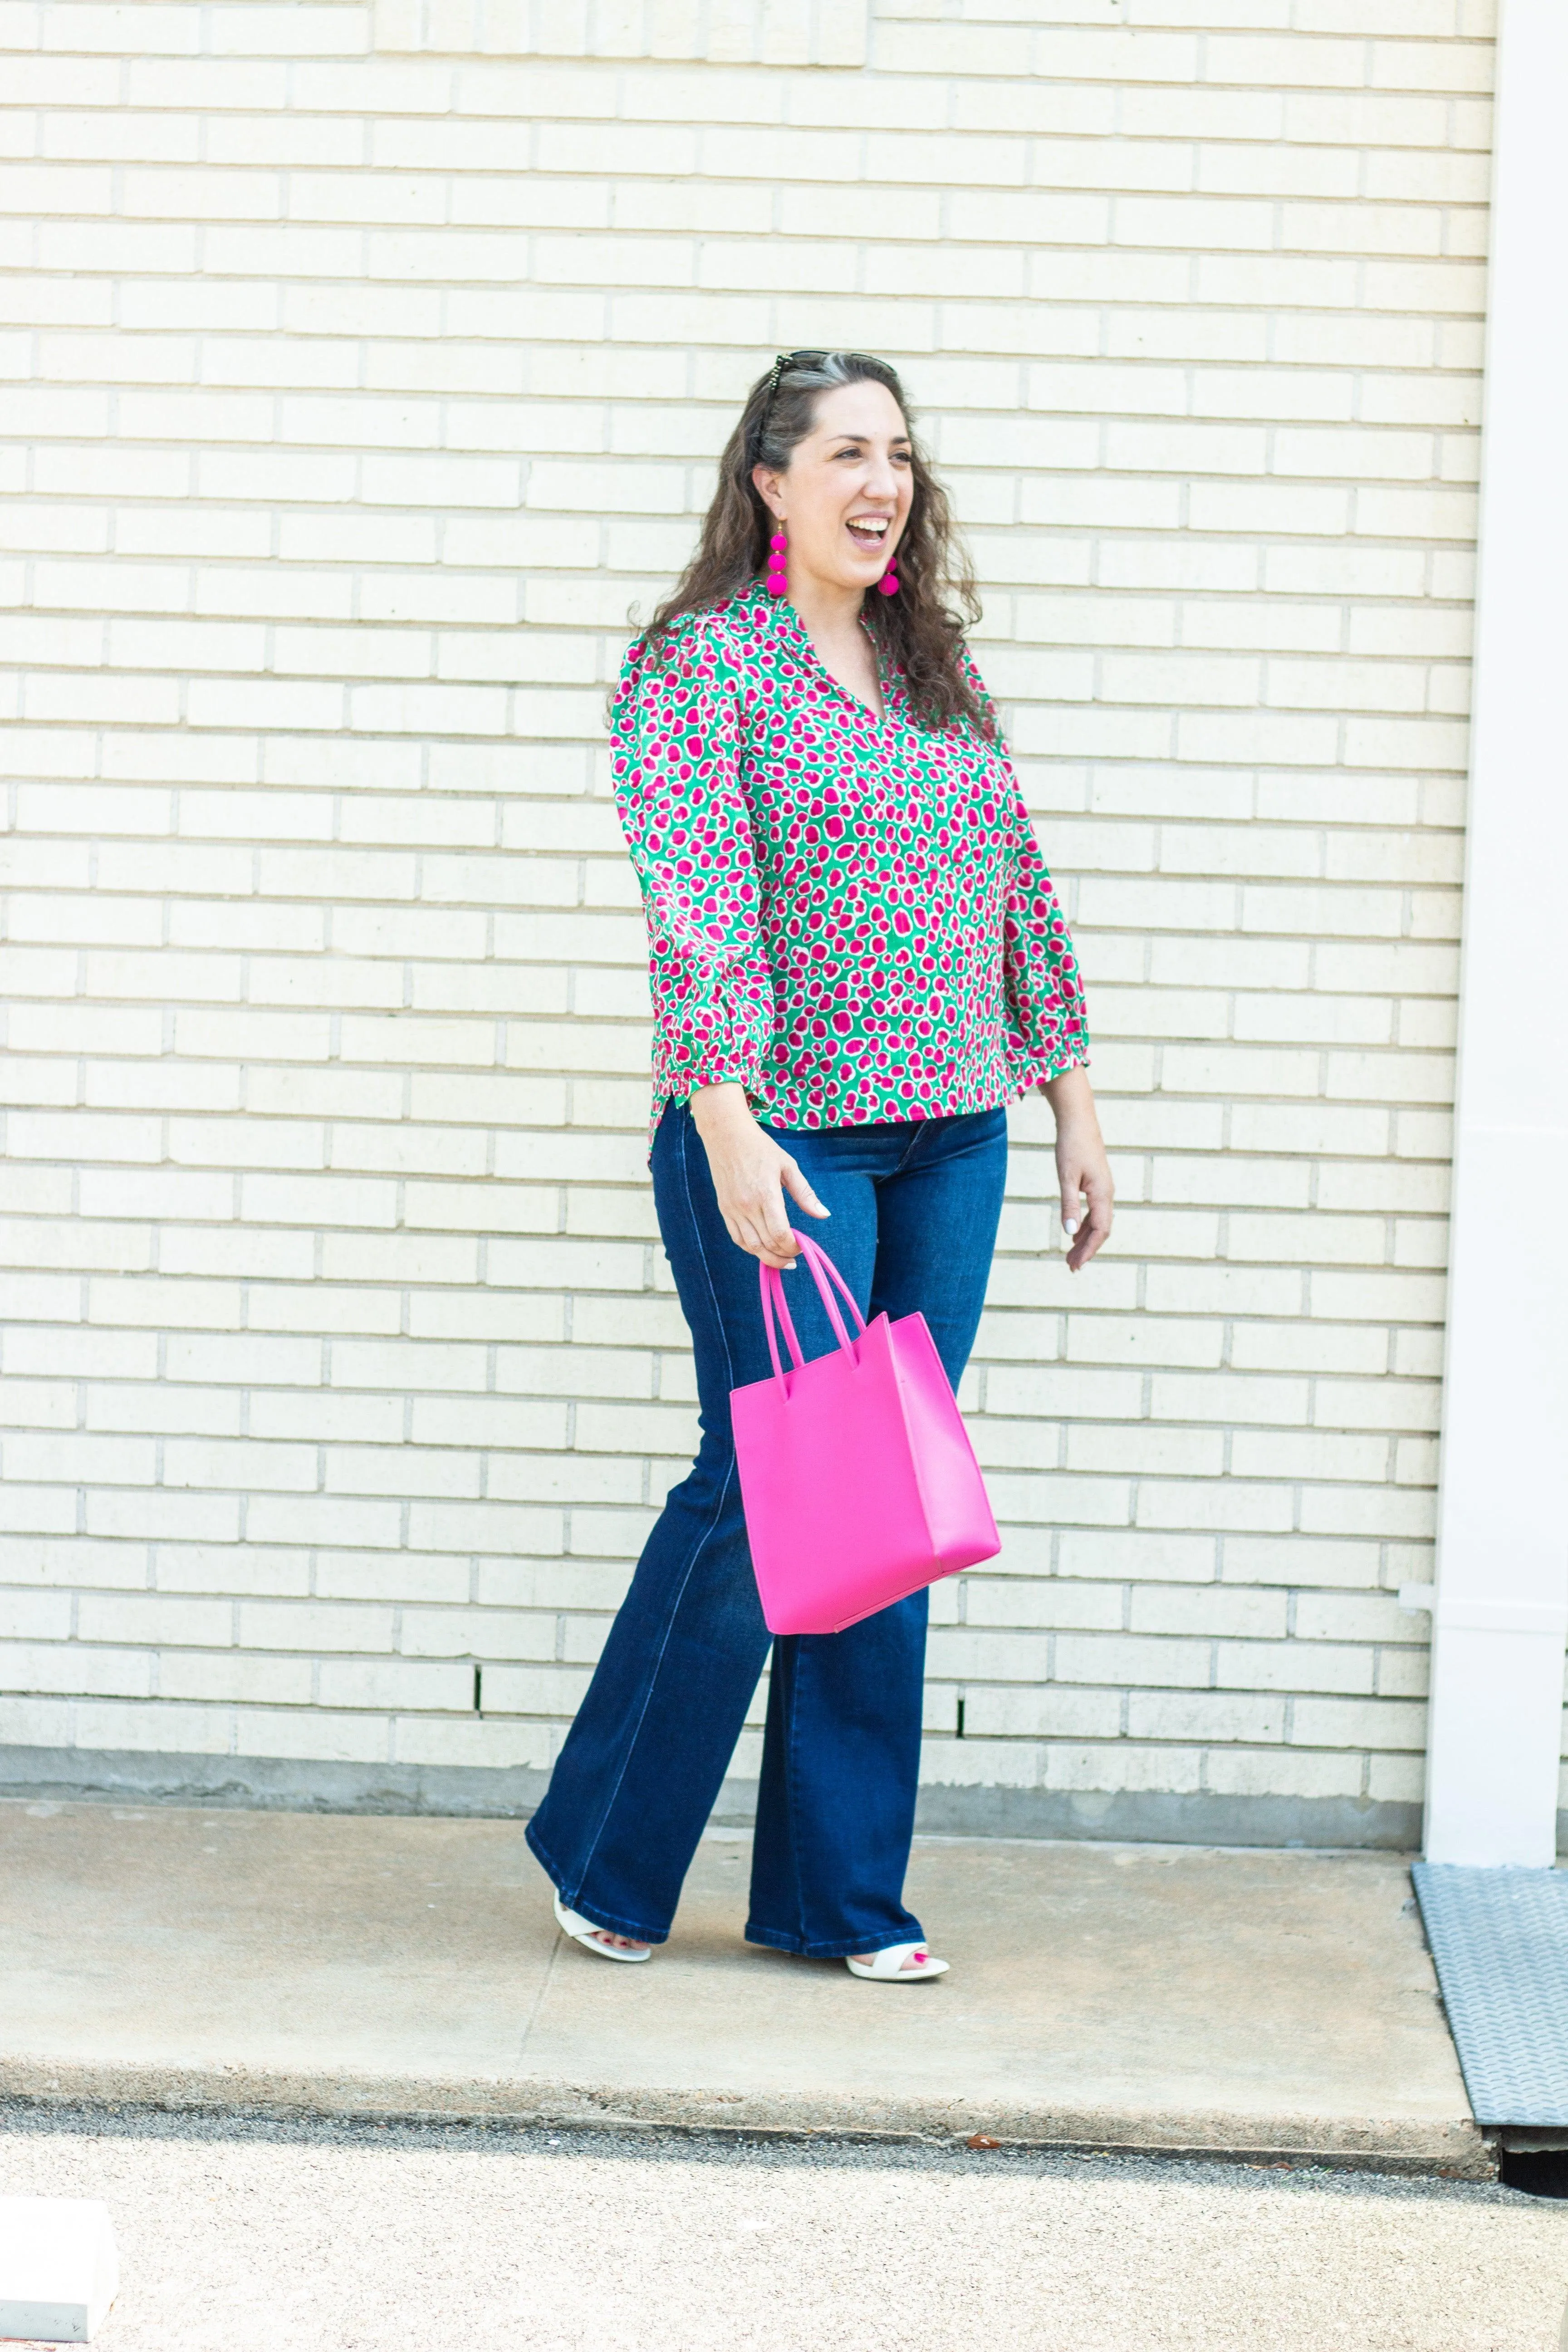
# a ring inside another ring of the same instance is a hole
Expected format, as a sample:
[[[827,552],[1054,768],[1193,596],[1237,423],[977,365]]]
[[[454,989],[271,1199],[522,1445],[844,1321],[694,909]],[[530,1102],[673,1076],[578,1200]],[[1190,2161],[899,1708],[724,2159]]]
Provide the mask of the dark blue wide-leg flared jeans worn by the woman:
[[[980,1322],[1006,1115],[773,1131],[832,1218],[827,1249],[865,1315],[931,1324],[959,1383]],[[703,1444],[649,1536],[567,1733],[529,1846],[562,1900],[616,1936],[663,1943],[769,1653],[745,1543],[729,1392],[769,1371],[757,1261],[729,1240],[684,1103],[654,1138],[654,1200],[691,1324]],[[797,1265],[809,1357],[835,1345]],[[926,1595],[846,1632],[773,1642],[745,1936],[830,1959],[919,1940],[903,1875],[914,1832]]]

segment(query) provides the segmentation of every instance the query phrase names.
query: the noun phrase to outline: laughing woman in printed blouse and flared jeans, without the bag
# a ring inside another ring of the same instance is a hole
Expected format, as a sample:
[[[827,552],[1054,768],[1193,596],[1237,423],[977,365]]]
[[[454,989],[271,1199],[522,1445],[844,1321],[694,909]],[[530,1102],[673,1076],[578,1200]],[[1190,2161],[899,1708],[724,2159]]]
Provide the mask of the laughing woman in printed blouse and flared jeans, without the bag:
[[[790,1204],[832,1218],[865,1315],[924,1310],[954,1388],[1001,1211],[1004,1103],[1051,1098],[1067,1265],[1110,1232],[1077,962],[943,604],[950,562],[893,369],[788,353],[614,701],[651,943],[654,1200],[703,1444],[529,1823],[559,1924],[607,1959],[668,1938],[769,1651],[729,1390],[769,1371],[752,1261],[795,1265]],[[966,576],[957,595],[973,619]],[[795,1319],[806,1355],[832,1345],[813,1289]],[[879,1983],[945,1971],[903,1903],[924,1644],[924,1592],[773,1642],[750,1943]]]

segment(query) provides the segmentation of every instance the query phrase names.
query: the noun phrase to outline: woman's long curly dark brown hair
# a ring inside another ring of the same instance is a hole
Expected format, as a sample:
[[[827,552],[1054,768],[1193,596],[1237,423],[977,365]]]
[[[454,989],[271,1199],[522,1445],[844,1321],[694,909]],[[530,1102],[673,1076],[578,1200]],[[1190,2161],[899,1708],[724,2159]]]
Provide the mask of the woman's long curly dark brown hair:
[[[741,423],[719,459],[719,487],[696,553],[642,633],[642,652],[656,654],[684,614],[712,612],[762,576],[776,522],[752,482],[752,468],[771,466],[785,473],[792,449],[811,430],[820,395],[839,383],[884,383],[912,428],[903,383],[886,360],[875,360],[865,350],[780,355],[745,395]],[[931,473],[931,461],[912,430],[910,470],[914,496],[898,541],[898,595],[867,595],[863,619],[879,656],[903,670],[922,727],[943,729],[971,720],[980,734],[994,739],[997,720],[976,691],[964,661],[964,626],[980,619],[980,597],[947,492]]]

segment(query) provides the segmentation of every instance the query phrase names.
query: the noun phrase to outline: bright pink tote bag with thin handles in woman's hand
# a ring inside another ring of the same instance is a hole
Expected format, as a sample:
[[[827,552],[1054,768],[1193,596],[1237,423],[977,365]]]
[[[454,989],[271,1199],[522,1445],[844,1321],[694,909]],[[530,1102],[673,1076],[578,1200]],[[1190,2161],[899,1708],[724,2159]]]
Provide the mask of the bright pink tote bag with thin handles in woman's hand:
[[[769,1632],[844,1632],[992,1559],[1001,1541],[926,1317],[867,1324],[832,1258],[804,1232],[795,1240],[839,1345],[802,1359],[783,1275],[762,1265],[773,1376],[731,1388],[729,1409]],[[853,1338],[830,1284],[856,1319]]]

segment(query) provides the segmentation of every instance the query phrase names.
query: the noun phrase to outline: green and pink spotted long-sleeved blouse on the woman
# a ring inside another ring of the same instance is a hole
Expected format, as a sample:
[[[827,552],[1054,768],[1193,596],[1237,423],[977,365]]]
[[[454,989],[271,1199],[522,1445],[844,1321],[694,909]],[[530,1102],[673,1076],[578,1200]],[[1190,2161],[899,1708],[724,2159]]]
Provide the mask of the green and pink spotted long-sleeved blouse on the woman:
[[[877,720],[762,583],[625,656],[611,762],[649,917],[654,1120],[722,1080],[783,1129],[933,1120],[1088,1058],[1006,753],[971,722],[917,727],[898,675],[882,699]]]

